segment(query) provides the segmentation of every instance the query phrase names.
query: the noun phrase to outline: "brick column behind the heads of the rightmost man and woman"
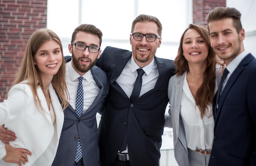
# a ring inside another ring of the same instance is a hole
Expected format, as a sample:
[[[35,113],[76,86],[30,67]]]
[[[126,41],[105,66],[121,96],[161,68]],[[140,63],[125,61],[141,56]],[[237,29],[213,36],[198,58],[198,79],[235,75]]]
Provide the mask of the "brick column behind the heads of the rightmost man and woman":
[[[193,0],[193,23],[207,28],[207,15],[216,7],[226,7],[226,0]]]

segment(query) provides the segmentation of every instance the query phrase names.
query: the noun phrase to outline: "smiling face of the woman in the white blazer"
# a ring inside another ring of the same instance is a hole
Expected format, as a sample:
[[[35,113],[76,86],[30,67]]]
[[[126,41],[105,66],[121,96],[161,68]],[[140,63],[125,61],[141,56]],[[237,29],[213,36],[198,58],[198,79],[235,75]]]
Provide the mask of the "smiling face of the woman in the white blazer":
[[[39,47],[33,60],[40,71],[42,80],[52,80],[53,75],[61,67],[62,58],[61,47],[55,40],[49,40]]]

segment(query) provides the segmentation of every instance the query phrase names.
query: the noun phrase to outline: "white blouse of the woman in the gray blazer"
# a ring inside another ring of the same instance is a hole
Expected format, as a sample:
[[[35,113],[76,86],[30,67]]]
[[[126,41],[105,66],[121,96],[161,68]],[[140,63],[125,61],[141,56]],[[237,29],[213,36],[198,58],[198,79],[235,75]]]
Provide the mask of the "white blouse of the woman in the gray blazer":
[[[216,88],[217,89],[217,85]],[[201,119],[199,108],[189,89],[186,75],[183,83],[180,114],[186,133],[187,146],[191,150],[211,150],[213,144],[214,120],[211,106],[207,106],[206,116]]]

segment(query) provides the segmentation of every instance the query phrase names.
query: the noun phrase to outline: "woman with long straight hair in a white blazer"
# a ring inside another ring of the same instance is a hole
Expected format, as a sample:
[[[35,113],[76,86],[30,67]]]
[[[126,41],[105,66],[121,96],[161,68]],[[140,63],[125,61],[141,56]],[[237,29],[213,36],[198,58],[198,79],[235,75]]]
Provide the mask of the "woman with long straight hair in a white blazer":
[[[27,149],[32,154],[15,157],[11,162],[16,164],[7,163],[11,154],[3,148],[9,149],[9,144],[0,142],[1,166],[21,165],[25,159],[28,159],[26,166],[52,164],[67,97],[61,41],[53,31],[39,29],[30,36],[18,75],[0,103],[0,125],[4,124],[17,137],[9,142],[10,146]]]

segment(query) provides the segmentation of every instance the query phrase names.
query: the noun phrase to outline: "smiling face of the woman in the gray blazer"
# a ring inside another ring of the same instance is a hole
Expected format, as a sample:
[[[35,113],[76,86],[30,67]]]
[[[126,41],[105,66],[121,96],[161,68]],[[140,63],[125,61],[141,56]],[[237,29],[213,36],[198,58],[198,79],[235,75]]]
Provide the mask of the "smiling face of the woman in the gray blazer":
[[[184,34],[182,49],[188,64],[207,61],[209,45],[195,29],[188,29]]]

